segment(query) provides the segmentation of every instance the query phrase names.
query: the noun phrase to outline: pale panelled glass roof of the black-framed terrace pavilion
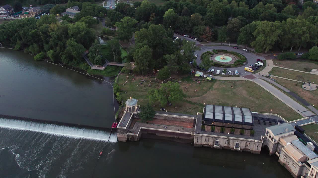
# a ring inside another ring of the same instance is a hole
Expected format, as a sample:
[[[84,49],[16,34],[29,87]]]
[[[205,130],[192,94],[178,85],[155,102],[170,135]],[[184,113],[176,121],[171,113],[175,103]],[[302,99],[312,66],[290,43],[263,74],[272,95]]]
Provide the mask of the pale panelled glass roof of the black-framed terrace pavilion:
[[[204,121],[254,125],[250,109],[230,106],[206,105],[203,114]]]

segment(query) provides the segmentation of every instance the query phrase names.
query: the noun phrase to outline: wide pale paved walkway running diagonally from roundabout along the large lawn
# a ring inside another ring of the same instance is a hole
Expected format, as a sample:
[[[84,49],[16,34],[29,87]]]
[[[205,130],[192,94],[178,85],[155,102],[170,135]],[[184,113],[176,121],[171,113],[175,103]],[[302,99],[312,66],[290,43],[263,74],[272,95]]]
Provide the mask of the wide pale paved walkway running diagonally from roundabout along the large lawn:
[[[300,105],[290,97],[288,97],[286,94],[272,86],[271,84],[267,83],[261,78],[252,79],[253,82],[264,88],[266,91],[270,92],[273,96],[275,96],[277,99],[285,103],[287,106],[292,108],[294,111],[299,113],[303,117],[309,117],[313,116],[314,113],[311,111],[308,111],[304,106]]]

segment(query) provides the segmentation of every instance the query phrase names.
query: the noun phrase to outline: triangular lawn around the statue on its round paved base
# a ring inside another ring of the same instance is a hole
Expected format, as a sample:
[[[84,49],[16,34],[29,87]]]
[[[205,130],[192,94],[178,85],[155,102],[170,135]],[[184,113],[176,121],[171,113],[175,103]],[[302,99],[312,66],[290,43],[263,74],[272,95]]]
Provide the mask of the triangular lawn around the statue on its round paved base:
[[[285,86],[288,90],[296,94],[299,94],[299,96],[305,99],[309,104],[318,106],[318,90],[315,90],[315,91],[304,90],[301,88],[302,83],[298,83],[298,82],[294,82],[294,81],[286,80],[286,79],[280,79],[276,77],[273,77],[273,78],[277,80],[276,81],[277,83],[279,83],[282,86]]]

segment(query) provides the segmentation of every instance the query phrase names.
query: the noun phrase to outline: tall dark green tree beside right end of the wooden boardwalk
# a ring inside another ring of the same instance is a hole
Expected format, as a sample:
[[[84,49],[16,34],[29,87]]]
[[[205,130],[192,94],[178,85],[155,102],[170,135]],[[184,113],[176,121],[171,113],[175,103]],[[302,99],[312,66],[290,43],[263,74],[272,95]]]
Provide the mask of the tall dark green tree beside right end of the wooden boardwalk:
[[[151,49],[149,46],[136,49],[134,52],[135,70],[137,73],[146,74],[154,67],[154,60],[152,59]]]

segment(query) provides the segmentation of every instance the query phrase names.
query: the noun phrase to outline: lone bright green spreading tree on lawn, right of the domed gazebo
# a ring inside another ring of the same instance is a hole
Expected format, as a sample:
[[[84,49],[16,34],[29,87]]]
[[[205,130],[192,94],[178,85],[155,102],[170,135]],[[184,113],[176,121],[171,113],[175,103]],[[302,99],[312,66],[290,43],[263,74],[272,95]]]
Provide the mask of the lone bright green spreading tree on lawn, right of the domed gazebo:
[[[177,82],[168,81],[161,84],[159,89],[150,89],[147,93],[149,103],[152,104],[159,101],[162,106],[167,105],[170,102],[180,101],[185,97],[180,85]]]

